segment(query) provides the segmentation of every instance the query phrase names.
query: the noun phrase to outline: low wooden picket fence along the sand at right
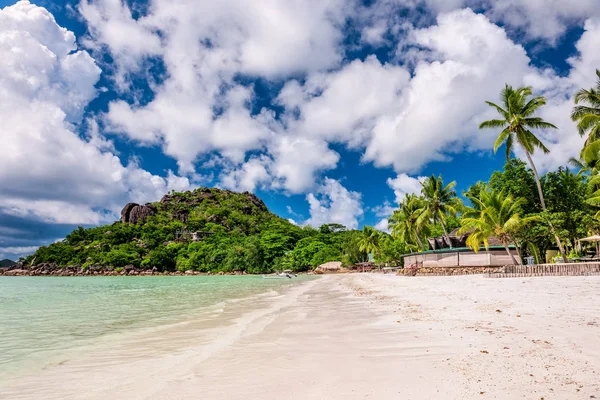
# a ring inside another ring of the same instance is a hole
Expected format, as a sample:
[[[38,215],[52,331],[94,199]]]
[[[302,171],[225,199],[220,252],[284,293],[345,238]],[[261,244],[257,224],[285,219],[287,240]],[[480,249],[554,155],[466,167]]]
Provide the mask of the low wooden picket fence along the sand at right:
[[[539,265],[507,265],[488,278],[522,278],[529,276],[600,276],[600,262]]]

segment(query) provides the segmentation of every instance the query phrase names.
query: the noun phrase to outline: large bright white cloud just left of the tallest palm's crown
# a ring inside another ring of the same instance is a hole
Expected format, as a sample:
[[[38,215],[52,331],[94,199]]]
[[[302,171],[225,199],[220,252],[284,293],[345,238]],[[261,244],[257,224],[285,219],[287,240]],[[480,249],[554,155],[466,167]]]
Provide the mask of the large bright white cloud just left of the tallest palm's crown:
[[[493,138],[477,129],[488,112],[484,101],[498,96],[505,82],[519,84],[535,73],[521,46],[471,10],[441,14],[437,25],[415,31],[413,40],[433,60],[418,63],[397,112],[379,118],[365,153],[398,172],[452,152],[489,148]]]

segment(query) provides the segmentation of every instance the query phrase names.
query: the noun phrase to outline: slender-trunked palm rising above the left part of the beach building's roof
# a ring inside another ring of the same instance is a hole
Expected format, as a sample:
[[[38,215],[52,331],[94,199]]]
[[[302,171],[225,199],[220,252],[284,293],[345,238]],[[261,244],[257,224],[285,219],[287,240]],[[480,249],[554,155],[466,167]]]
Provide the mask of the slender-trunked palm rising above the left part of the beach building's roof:
[[[446,216],[449,214],[455,215],[459,206],[459,200],[454,190],[456,182],[453,181],[444,186],[441,175],[437,178],[431,175],[421,185],[426,215],[434,224],[439,223],[442,225],[448,245],[452,247],[452,242],[446,230]]]

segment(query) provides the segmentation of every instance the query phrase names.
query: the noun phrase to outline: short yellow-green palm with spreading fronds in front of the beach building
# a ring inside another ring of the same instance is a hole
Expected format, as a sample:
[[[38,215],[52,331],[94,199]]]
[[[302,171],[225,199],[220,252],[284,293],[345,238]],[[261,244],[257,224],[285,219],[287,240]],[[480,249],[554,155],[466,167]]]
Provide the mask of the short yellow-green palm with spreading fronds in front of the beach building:
[[[511,233],[524,224],[537,220],[539,217],[520,218],[518,210],[525,203],[525,199],[514,199],[511,195],[503,192],[484,188],[479,197],[469,195],[473,207],[468,207],[465,217],[461,221],[459,234],[470,232],[467,245],[478,252],[483,243],[486,250],[489,249],[488,239],[496,237],[512,259],[513,264],[519,264],[515,256],[510,252],[508,246],[513,239]]]

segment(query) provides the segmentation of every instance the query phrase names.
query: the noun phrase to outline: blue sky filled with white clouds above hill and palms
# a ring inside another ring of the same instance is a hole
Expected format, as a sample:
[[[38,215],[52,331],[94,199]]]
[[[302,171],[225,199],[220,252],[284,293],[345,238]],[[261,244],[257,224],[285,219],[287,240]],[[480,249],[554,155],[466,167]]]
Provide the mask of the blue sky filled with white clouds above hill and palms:
[[[599,46],[597,0],[0,0],[0,258],[199,186],[385,230],[423,177],[502,168],[505,84],[559,127],[538,169],[577,156]]]

